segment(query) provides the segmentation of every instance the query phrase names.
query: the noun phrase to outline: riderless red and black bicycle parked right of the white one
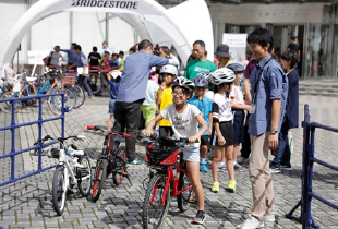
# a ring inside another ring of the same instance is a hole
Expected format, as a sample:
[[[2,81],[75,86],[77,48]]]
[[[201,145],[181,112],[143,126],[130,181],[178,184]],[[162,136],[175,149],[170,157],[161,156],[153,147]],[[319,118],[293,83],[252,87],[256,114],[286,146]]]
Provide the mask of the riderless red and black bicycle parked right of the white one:
[[[123,177],[126,177],[130,184],[132,184],[126,172],[125,149],[120,144],[130,137],[126,133],[111,133],[100,129],[99,126],[88,125],[87,130],[99,131],[105,135],[102,153],[100,154],[94,172],[93,196],[90,201],[96,202],[102,191],[105,180],[112,174],[112,181],[119,185]]]

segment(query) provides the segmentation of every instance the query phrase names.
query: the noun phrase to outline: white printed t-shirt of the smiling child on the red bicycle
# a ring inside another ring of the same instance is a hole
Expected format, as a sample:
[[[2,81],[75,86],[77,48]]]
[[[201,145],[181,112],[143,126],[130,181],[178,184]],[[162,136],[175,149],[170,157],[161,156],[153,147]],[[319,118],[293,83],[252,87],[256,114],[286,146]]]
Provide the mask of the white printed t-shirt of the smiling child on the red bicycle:
[[[188,104],[182,113],[176,111],[176,105],[168,105],[160,111],[164,119],[170,121],[173,136],[179,140],[181,137],[190,137],[198,132],[198,122],[196,117],[201,113],[198,108],[194,105]],[[200,147],[200,143],[191,144],[192,147]]]

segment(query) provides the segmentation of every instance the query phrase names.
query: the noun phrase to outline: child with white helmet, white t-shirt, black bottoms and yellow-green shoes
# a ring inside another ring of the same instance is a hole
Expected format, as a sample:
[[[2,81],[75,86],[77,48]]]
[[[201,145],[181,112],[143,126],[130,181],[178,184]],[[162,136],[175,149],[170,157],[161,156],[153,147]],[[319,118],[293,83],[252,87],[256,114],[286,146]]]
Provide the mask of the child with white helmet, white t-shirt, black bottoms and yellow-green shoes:
[[[230,181],[227,191],[236,191],[234,169],[233,169],[233,126],[232,111],[229,93],[233,86],[234,73],[228,68],[221,68],[210,73],[209,79],[215,84],[215,96],[213,100],[213,123],[212,142],[214,147],[214,158],[212,162],[213,185],[212,191],[219,192],[219,183],[217,179],[218,162],[221,155],[226,155],[226,167]],[[224,166],[224,167],[225,167]]]

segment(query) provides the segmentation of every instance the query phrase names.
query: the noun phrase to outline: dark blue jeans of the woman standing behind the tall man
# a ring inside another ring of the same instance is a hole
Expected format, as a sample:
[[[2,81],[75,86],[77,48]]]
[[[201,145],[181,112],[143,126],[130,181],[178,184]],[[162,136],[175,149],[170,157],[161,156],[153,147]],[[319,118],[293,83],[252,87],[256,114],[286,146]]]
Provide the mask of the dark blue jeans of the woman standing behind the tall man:
[[[280,165],[288,166],[290,165],[290,159],[288,130],[281,128],[278,135],[278,148],[276,149],[273,165],[276,167],[280,167]]]

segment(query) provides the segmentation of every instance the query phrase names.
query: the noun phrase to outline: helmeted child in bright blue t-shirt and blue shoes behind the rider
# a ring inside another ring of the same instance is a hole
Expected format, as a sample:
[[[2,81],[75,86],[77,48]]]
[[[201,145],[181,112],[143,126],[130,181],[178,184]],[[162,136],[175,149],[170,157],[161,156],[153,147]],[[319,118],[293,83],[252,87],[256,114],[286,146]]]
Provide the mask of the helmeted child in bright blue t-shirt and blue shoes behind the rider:
[[[191,99],[189,99],[189,104],[195,105],[200,109],[203,119],[206,121],[206,124],[208,126],[208,130],[201,136],[200,146],[200,169],[204,172],[208,171],[208,168],[206,167],[206,156],[208,153],[209,135],[212,134],[213,126],[213,100],[204,95],[205,88],[208,86],[206,76],[208,76],[208,73],[202,72],[194,77],[193,83],[195,85],[195,95]]]

